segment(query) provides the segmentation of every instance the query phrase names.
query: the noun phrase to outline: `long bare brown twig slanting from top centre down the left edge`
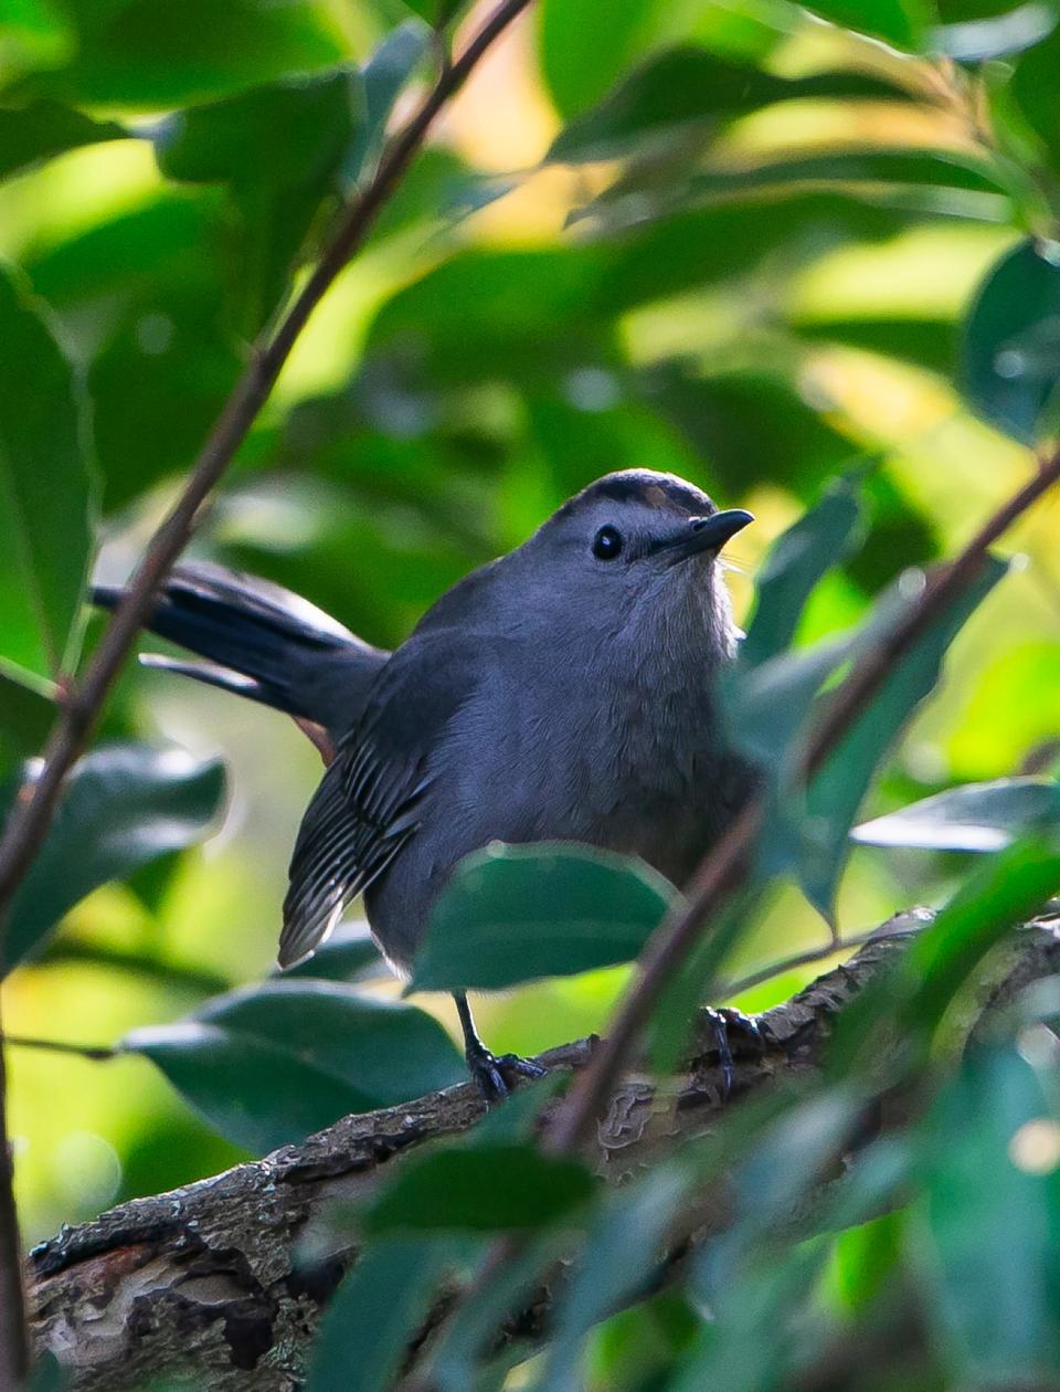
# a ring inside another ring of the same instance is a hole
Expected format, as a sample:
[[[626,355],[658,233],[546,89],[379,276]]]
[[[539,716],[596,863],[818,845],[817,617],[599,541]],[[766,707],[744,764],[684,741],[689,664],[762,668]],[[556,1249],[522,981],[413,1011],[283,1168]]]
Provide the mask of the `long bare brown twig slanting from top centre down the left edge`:
[[[186,546],[203,503],[246,437],[298,335],[334,278],[363,245],[376,217],[423,145],[438,113],[463,86],[494,40],[529,4],[530,0],[501,0],[460,56],[442,70],[423,104],[387,146],[371,182],[351,205],[302,291],[280,319],[275,331],[271,337],[263,337],[250,354],[250,361],[214,423],[184,491],[152,537],[83,679],[70,688],[45,746],[39,775],[19,791],[0,841],[0,934],[13,895],[51,825],[67,774],[96,725],[107,692],[128,657],[136,633],[150,614],[157,589]],[[0,937],[0,965],[3,959]],[[0,1070],[0,1157],[3,1157],[0,1160],[0,1392],[11,1392],[25,1377],[29,1350],[18,1263],[17,1214],[7,1158],[3,1083]]]

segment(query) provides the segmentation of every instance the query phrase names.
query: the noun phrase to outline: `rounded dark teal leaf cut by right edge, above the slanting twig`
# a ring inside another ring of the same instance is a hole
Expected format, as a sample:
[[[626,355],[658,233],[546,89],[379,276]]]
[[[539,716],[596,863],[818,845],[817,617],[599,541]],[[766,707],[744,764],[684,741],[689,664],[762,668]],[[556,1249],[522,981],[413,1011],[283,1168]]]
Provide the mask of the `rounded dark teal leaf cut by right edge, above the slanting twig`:
[[[964,324],[960,383],[999,430],[1035,444],[1060,383],[1060,244],[1021,242],[993,267]]]

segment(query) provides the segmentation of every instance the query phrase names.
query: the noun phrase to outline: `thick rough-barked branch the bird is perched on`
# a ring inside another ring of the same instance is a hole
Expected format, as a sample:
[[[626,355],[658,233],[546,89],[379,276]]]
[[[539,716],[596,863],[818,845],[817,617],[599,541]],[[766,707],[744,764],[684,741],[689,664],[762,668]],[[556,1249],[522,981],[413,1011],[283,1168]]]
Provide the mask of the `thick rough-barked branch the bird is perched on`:
[[[707,1025],[665,1089],[627,1075],[597,1128],[600,1173],[618,1183],[709,1132],[741,1096],[815,1069],[839,1012],[928,917],[892,919],[849,962],[760,1016],[764,1052],[737,1058],[730,1097]],[[1013,984],[1060,970],[1049,920],[1017,934],[1013,951],[1014,962],[995,963],[986,1011],[1003,1008]],[[540,1062],[576,1069],[593,1047],[579,1040]],[[300,1146],[65,1228],[29,1258],[36,1347],[60,1359],[75,1392],[121,1392],[163,1375],[199,1392],[294,1392],[320,1311],[356,1260],[349,1247],[321,1257],[309,1242],[324,1231],[321,1214],[335,1200],[363,1199],[405,1153],[466,1130],[481,1112],[470,1084],[451,1087],[346,1116]]]

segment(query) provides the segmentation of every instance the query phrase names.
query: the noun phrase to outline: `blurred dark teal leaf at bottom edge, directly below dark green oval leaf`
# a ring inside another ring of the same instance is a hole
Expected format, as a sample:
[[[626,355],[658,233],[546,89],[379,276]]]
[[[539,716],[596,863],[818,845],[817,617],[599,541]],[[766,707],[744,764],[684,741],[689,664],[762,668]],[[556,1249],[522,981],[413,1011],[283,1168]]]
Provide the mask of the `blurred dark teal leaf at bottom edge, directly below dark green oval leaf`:
[[[387,1392],[447,1261],[437,1239],[390,1239],[363,1251],[324,1313],[306,1392]]]

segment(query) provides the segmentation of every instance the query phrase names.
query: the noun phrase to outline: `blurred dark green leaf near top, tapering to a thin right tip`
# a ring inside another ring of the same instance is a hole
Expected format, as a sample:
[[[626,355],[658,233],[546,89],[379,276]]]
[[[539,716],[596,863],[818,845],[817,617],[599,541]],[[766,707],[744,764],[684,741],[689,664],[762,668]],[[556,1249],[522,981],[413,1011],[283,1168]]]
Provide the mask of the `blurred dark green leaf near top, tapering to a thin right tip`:
[[[900,93],[886,82],[832,72],[776,78],[730,63],[707,49],[673,47],[648,58],[595,110],[576,117],[552,142],[549,160],[577,163],[612,159],[675,128],[721,122],[790,97],[883,96]]]

